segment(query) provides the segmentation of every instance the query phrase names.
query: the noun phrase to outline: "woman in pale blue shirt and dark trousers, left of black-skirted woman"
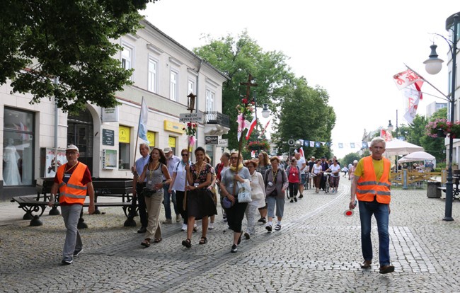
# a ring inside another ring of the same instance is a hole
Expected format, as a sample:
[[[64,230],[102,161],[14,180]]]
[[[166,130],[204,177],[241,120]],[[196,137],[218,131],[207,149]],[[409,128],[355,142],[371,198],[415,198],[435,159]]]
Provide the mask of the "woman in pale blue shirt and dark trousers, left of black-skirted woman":
[[[185,231],[187,230],[188,222],[187,209],[184,209],[183,205],[185,186],[187,183],[187,170],[185,168],[190,166],[187,149],[180,151],[180,156],[182,156],[182,160],[174,166],[173,178],[171,184],[169,185],[168,193],[171,193],[172,190],[176,190],[178,212],[183,219],[182,231]]]

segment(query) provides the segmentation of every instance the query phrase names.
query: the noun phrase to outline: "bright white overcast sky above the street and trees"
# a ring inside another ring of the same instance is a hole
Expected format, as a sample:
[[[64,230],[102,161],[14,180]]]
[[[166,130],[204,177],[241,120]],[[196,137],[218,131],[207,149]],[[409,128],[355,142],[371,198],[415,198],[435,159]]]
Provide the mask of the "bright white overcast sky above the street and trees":
[[[454,0],[160,0],[142,13],[190,50],[205,44],[202,35],[237,36],[246,29],[263,50],[283,52],[297,76],[328,91],[337,115],[333,153],[341,158],[357,149],[339,149],[339,143],[361,142],[364,129],[386,127],[389,120],[396,125],[396,110],[398,125],[407,125],[392,80],[404,63],[447,93],[447,68],[430,76],[422,62],[433,41],[447,61],[447,42],[432,33],[447,37],[445,20],[459,11]],[[428,84],[422,91],[439,96]],[[425,94],[418,113],[425,115],[434,101],[444,102]]]

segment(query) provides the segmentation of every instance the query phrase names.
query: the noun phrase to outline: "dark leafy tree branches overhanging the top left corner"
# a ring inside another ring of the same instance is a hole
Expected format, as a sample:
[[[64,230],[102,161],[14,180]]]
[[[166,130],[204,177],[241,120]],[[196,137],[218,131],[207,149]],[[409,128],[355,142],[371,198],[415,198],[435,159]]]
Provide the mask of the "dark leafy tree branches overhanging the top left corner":
[[[111,40],[139,28],[139,9],[156,0],[2,1],[0,84],[51,98],[64,111],[86,102],[117,105],[115,91],[130,84]],[[59,84],[54,83],[59,78]]]

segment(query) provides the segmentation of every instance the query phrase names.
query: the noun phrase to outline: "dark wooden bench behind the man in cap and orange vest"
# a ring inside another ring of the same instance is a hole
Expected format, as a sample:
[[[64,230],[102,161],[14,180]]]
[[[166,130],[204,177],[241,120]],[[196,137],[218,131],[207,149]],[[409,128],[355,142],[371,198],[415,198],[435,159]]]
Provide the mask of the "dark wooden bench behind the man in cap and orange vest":
[[[48,207],[49,201],[47,201],[47,197],[45,200],[40,201],[40,197],[36,197],[35,195],[25,195],[25,196],[17,196],[13,197],[11,202],[18,202],[19,208],[25,211],[23,219],[30,219],[30,226],[42,226],[42,221],[40,220],[40,216],[45,212],[46,207]],[[125,221],[124,226],[136,226],[136,222],[134,222],[134,214],[136,213],[137,204],[132,202],[95,202],[95,209],[96,207],[122,207],[127,220]],[[85,202],[84,207],[88,207],[89,203]],[[54,207],[59,207],[59,202],[54,202]],[[33,213],[40,213],[35,214]],[[85,229],[88,226],[84,224],[83,219],[83,209],[81,210],[80,219],[79,219],[79,229]]]

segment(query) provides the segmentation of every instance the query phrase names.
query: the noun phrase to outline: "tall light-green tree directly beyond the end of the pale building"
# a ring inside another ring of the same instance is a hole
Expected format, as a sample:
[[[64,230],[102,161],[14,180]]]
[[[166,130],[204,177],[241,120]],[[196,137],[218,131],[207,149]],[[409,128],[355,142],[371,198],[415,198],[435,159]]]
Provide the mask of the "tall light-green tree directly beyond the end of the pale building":
[[[229,149],[237,149],[238,113],[235,107],[246,96],[246,86],[241,86],[241,83],[247,82],[251,74],[258,86],[251,88],[250,100],[253,91],[256,91],[258,106],[267,103],[272,111],[275,110],[276,102],[280,100],[280,88],[293,77],[286,64],[287,57],[282,52],[265,52],[246,30],[237,38],[227,35],[213,39],[208,36],[207,45],[197,47],[193,52],[230,77],[222,88],[222,112],[230,117],[231,127],[229,134],[226,134]],[[251,119],[248,117],[247,120]]]

